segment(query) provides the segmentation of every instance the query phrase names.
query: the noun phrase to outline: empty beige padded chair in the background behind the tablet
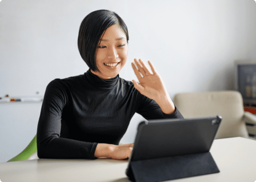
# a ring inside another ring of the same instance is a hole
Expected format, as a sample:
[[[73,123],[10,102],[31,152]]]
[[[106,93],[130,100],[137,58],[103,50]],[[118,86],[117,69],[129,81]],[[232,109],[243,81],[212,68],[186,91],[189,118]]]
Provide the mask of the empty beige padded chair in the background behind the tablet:
[[[222,116],[215,139],[236,136],[249,138],[245,121],[256,124],[256,116],[244,111],[239,91],[177,93],[173,102],[184,118]]]

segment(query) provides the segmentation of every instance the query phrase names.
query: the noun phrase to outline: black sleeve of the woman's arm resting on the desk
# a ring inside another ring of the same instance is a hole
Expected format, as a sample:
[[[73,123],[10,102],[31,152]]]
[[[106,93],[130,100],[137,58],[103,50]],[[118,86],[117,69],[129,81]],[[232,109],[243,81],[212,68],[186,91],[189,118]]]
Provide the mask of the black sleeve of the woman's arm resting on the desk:
[[[37,155],[39,158],[94,159],[97,143],[60,137],[62,112],[69,102],[67,89],[58,79],[46,88],[37,126]]]

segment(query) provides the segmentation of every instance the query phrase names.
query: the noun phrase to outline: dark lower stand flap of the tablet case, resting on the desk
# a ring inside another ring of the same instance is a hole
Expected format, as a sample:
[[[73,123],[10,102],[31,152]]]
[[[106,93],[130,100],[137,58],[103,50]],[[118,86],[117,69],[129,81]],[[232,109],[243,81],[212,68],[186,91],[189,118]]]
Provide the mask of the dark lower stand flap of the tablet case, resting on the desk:
[[[159,182],[219,172],[210,152],[130,163],[134,181]]]

